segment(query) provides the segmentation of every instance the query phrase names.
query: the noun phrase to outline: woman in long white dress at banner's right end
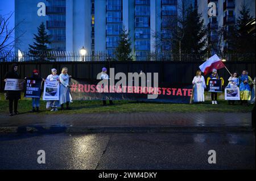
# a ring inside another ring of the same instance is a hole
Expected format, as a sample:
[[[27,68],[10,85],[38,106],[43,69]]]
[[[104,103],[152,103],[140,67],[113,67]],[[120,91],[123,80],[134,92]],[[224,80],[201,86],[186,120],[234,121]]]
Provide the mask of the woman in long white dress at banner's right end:
[[[206,85],[201,70],[196,71],[196,76],[193,78],[192,84],[194,85],[194,102],[204,102],[204,89]]]

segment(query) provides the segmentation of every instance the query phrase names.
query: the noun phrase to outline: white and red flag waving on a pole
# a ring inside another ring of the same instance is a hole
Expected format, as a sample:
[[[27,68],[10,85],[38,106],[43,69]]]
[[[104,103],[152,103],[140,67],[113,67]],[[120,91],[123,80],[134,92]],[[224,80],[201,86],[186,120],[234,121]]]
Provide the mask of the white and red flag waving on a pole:
[[[211,73],[213,69],[218,70],[224,67],[225,65],[217,56],[217,54],[214,54],[214,56],[210,57],[207,61],[204,62],[204,64],[199,66],[200,70],[203,71],[204,75]]]

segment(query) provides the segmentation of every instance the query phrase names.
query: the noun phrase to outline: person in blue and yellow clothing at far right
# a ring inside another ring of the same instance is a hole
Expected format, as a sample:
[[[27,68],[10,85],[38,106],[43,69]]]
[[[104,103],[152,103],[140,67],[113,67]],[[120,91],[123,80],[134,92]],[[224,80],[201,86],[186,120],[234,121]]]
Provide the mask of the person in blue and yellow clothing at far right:
[[[251,100],[251,88],[250,86],[253,84],[253,79],[248,76],[248,71],[243,70],[242,75],[239,77],[239,88],[240,88],[240,103],[247,104],[248,100]]]

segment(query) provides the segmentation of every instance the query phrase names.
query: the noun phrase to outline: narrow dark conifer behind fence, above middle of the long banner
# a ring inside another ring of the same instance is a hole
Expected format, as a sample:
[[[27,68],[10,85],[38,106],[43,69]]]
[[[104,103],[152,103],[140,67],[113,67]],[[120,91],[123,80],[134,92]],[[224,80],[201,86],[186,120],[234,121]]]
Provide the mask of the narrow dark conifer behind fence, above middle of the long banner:
[[[119,61],[129,61],[132,60],[131,51],[131,39],[129,37],[129,32],[125,30],[125,27],[123,27],[123,30],[119,35],[118,46],[115,49],[114,54]]]

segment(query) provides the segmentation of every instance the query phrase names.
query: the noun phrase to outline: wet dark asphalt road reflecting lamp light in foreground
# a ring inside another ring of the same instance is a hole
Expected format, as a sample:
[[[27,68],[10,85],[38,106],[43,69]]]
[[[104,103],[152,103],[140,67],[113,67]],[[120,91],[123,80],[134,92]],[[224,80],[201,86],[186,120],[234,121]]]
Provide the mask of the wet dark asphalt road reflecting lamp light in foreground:
[[[46,164],[38,164],[38,150]],[[216,164],[208,151],[216,151]],[[0,169],[255,169],[253,133],[2,134]]]

